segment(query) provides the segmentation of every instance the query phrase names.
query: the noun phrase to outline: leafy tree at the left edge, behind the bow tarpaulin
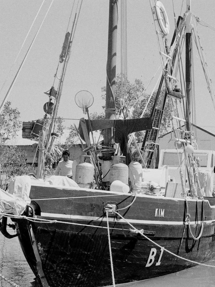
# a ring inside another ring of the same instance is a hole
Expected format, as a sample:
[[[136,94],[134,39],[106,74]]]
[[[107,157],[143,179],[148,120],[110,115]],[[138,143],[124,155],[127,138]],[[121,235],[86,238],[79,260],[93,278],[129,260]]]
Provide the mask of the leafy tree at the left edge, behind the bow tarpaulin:
[[[17,131],[21,128],[19,121],[19,111],[17,108],[11,108],[11,102],[6,102],[2,113],[0,114],[0,186],[3,184],[3,173],[9,171],[7,178],[12,175],[20,175],[24,172],[20,169],[23,166],[22,161],[26,155],[19,153],[19,151],[7,148],[7,140],[15,138]],[[19,159],[22,161],[20,162]]]

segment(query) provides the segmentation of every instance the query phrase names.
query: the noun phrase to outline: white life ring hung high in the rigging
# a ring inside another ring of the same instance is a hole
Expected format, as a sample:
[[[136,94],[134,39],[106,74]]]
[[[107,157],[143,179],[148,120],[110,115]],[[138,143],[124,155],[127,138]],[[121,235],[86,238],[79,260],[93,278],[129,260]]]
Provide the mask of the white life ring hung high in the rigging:
[[[157,1],[154,7],[155,15],[160,27],[160,32],[166,36],[169,34],[169,19],[167,16],[167,12],[161,3],[161,1]]]

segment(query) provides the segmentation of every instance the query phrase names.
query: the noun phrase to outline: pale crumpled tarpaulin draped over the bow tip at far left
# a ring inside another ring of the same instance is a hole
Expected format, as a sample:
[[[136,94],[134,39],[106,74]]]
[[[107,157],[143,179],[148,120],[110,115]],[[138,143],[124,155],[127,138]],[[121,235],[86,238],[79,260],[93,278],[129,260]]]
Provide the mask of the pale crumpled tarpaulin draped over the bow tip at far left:
[[[0,189],[0,212],[20,215],[30,204],[31,180],[27,175],[12,179],[7,191]]]

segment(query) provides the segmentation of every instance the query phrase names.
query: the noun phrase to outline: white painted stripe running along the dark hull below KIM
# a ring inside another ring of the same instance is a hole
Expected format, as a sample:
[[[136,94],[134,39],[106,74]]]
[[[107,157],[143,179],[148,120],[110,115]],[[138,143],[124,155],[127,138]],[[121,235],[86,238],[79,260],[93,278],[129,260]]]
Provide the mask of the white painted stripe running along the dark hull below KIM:
[[[91,221],[91,220],[96,220],[96,221],[107,221],[107,218],[101,218],[101,217],[95,217],[95,216],[81,216],[81,215],[67,215],[67,214],[57,214],[57,213],[44,213],[41,212],[41,217],[45,217],[46,219],[50,220],[54,220],[56,218],[67,218],[67,219],[71,219],[71,220],[87,220],[87,221]],[[39,218],[39,216],[38,216]],[[161,224],[161,225],[184,225],[183,221],[161,221],[161,220],[136,220],[136,219],[127,219],[130,223],[136,223],[136,224],[150,224],[150,225],[157,225],[157,224]],[[123,219],[121,218],[112,218],[112,217],[108,217],[108,221],[112,221],[112,222],[125,222]],[[215,222],[215,220],[207,220],[204,221],[204,224],[207,223],[212,223]],[[80,222],[81,223],[81,222]],[[187,222],[186,222],[187,224]],[[201,221],[190,221],[190,224],[201,224]]]

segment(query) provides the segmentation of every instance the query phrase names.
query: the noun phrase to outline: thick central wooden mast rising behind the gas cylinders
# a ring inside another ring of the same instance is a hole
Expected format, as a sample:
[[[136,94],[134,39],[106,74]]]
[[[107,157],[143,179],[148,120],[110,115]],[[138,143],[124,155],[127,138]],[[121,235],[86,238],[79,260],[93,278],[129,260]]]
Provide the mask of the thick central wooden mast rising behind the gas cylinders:
[[[108,26],[108,49],[107,49],[107,84],[105,119],[116,118],[115,86],[116,86],[116,44],[118,23],[118,0],[110,0],[109,3],[109,26]],[[104,130],[104,145],[114,143],[113,128]]]

